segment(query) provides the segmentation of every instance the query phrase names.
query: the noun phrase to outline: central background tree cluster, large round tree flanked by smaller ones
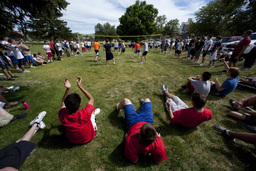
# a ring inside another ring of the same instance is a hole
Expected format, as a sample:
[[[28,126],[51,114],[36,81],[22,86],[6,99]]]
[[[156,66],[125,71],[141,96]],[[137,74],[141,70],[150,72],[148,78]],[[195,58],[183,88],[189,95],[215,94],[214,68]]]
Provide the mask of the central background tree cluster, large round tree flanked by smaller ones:
[[[134,5],[128,7],[124,15],[119,18],[120,25],[111,26],[109,23],[95,26],[95,35],[151,35],[163,34],[174,36],[178,31],[179,20],[166,22],[166,16],[157,16],[158,10],[145,1],[137,0]],[[107,37],[104,37],[107,38]],[[110,37],[113,38],[113,37]],[[147,37],[145,37],[147,38]],[[130,38],[128,38],[130,39]]]

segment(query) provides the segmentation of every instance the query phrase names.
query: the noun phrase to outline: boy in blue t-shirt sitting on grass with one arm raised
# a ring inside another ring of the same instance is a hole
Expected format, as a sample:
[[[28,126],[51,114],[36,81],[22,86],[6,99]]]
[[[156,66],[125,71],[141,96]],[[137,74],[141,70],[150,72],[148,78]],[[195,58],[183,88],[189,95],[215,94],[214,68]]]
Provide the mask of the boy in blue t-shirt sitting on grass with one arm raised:
[[[217,96],[226,96],[235,90],[239,81],[239,78],[237,76],[240,73],[240,69],[237,67],[229,67],[228,64],[225,62],[224,58],[221,59],[221,61],[224,63],[226,75],[228,76],[228,78],[221,86],[218,83],[218,78],[215,78],[214,82],[212,83],[210,93]]]

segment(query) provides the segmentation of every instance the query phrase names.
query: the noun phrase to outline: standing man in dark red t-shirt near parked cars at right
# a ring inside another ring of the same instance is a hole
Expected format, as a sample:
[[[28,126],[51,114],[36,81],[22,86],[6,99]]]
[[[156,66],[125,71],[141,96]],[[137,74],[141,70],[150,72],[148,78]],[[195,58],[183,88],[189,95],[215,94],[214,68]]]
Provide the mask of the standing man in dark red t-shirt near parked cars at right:
[[[237,67],[237,62],[239,60],[239,57],[244,53],[244,51],[246,50],[247,46],[251,43],[251,38],[249,37],[252,34],[252,30],[247,30],[242,34],[242,37],[244,39],[242,39],[238,45],[235,47],[233,54],[230,57],[229,60],[229,67],[232,66],[233,67]]]

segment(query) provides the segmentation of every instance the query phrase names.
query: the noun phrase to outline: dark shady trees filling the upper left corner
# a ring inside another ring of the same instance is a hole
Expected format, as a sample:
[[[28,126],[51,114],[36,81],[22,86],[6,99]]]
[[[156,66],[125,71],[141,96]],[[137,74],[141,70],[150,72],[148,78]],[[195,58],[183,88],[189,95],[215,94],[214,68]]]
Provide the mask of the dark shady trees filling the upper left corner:
[[[66,0],[1,0],[0,33],[9,35],[14,28],[34,39],[72,38],[75,35],[60,20]]]

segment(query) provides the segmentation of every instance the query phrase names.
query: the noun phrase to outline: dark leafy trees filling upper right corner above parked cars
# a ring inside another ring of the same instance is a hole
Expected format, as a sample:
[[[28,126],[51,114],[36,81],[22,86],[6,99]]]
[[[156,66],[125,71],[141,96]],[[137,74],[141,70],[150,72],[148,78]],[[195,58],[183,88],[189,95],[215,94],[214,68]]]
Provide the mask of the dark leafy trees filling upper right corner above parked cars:
[[[255,0],[215,0],[195,13],[189,33],[204,35],[241,35],[256,28]]]

